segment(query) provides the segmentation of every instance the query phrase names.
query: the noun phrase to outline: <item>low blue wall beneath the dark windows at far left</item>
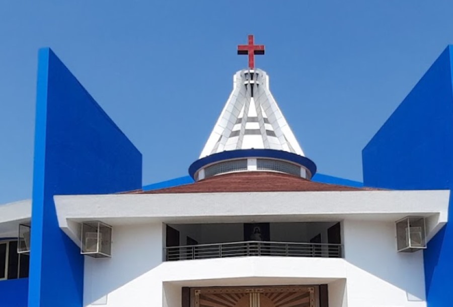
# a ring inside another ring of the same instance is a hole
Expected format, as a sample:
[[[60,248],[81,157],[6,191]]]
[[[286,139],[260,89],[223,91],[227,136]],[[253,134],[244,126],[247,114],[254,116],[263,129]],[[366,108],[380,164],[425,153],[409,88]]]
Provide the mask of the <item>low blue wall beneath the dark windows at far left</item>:
[[[26,307],[28,278],[0,281],[0,306]]]

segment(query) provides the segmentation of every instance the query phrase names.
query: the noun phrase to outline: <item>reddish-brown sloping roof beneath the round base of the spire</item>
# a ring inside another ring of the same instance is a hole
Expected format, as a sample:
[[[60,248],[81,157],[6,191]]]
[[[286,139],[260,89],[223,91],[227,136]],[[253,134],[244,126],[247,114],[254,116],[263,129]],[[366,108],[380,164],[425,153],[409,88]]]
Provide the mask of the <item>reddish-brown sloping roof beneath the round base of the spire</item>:
[[[353,188],[313,182],[292,175],[272,172],[242,172],[210,177],[195,183],[152,191],[130,191],[128,194],[218,193],[218,192],[289,192],[289,191],[360,191]]]

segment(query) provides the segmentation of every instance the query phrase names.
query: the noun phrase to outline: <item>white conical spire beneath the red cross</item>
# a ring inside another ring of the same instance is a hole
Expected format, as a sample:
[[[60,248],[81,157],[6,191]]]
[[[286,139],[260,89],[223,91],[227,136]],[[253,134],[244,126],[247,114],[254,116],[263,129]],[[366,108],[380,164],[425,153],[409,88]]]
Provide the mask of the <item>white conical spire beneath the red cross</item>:
[[[200,158],[225,150],[276,149],[304,156],[261,69],[236,72],[226,101]]]

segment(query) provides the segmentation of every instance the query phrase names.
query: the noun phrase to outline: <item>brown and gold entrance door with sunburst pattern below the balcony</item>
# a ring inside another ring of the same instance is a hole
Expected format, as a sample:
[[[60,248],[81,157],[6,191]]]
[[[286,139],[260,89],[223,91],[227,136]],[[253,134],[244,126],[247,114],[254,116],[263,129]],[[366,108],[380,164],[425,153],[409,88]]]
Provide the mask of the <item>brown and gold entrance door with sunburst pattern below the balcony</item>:
[[[307,286],[197,288],[193,307],[315,307]]]

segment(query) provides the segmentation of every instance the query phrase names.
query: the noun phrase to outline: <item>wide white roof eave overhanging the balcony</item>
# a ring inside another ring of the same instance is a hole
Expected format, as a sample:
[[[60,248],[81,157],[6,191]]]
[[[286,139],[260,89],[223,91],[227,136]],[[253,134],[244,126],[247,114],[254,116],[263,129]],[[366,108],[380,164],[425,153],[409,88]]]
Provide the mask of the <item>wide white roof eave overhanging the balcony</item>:
[[[234,192],[55,196],[60,227],[66,233],[86,220],[111,225],[146,222],[396,221],[426,217],[428,239],[447,222],[448,190]],[[244,206],[247,203],[247,206]],[[278,204],[278,205],[276,205]]]

